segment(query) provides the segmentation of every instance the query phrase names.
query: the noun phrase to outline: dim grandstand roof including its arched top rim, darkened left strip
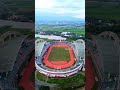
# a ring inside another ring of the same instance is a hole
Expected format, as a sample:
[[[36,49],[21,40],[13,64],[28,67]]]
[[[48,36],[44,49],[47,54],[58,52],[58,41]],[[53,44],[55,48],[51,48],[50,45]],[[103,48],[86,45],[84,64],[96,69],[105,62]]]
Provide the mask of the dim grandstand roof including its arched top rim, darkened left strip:
[[[13,69],[21,43],[26,37],[19,35],[17,32],[6,32],[0,36],[0,55],[2,59],[0,60],[0,72],[9,72]]]

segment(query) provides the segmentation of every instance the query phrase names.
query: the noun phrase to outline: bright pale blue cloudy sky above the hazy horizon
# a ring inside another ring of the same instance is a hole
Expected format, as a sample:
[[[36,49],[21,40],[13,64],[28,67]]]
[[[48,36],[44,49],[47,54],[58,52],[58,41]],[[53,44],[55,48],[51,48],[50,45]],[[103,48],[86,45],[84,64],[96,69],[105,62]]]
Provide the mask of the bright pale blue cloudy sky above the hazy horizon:
[[[35,0],[36,19],[85,19],[85,0]]]

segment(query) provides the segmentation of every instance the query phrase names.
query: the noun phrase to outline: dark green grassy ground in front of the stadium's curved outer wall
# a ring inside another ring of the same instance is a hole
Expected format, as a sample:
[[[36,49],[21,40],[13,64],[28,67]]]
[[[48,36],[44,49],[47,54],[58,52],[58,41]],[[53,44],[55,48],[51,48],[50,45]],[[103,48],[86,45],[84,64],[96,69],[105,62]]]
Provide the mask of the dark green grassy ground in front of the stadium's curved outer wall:
[[[45,75],[36,72],[36,79],[51,84],[57,84],[61,90],[75,90],[85,85],[85,76],[81,73],[67,78],[47,78]]]

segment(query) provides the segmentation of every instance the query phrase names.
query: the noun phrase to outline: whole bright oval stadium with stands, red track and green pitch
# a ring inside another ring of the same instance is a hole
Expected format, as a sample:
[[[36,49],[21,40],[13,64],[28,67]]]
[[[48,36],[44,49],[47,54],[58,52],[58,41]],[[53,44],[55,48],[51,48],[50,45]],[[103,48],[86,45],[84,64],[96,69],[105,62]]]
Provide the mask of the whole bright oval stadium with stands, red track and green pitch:
[[[35,66],[48,77],[69,77],[84,68],[85,42],[35,41]]]

